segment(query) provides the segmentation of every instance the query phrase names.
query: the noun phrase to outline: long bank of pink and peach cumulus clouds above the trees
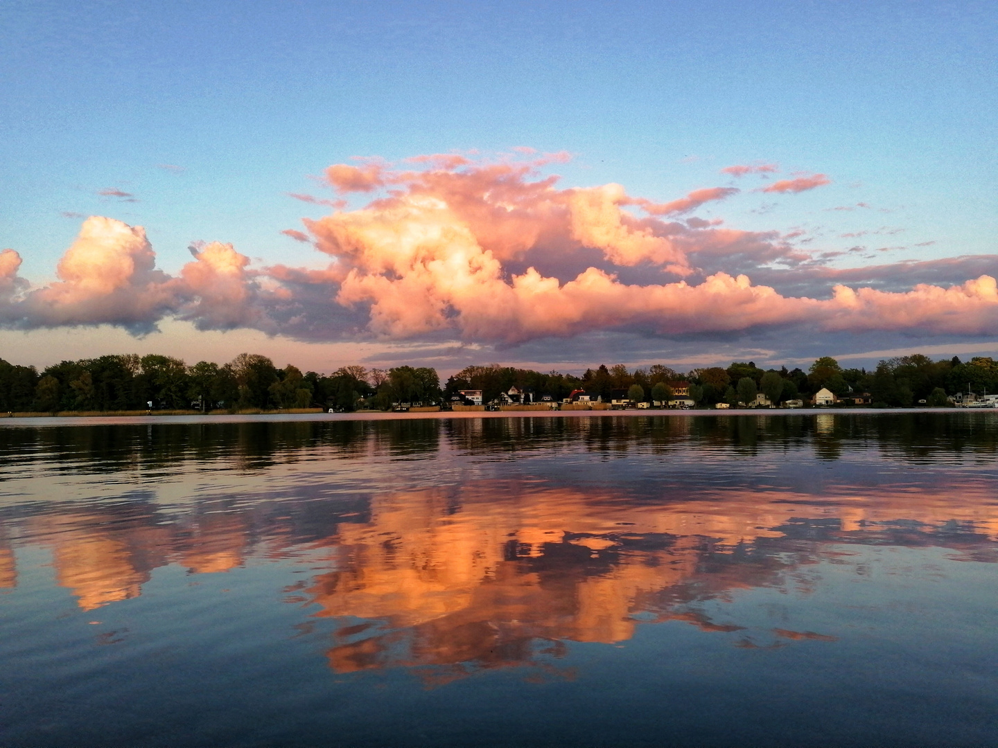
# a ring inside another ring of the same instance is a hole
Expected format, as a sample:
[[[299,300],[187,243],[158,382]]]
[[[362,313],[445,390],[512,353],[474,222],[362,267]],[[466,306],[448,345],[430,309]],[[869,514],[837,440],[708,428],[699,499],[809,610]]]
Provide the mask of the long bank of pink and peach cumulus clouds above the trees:
[[[233,245],[214,242],[171,276],[156,269],[142,227],[93,216],[49,285],[25,287],[20,256],[0,252],[0,320],[142,333],[177,317],[200,329],[251,327],[309,340],[502,345],[612,330],[987,335],[998,322],[993,256],[832,269],[778,231],[693,215],[735,199],[737,188],[699,187],[665,202],[616,184],[562,188],[539,173],[562,158],[444,155],[402,168],[377,160],[330,167],[329,187],[368,201],[355,209],[324,201],[333,211],[305,219],[307,233],[285,231],[327,256],[321,270],[253,268]],[[772,187],[792,198],[828,182],[813,175]],[[967,280],[963,271],[976,275]],[[917,285],[899,287],[898,277]],[[949,284],[931,282],[936,277]]]

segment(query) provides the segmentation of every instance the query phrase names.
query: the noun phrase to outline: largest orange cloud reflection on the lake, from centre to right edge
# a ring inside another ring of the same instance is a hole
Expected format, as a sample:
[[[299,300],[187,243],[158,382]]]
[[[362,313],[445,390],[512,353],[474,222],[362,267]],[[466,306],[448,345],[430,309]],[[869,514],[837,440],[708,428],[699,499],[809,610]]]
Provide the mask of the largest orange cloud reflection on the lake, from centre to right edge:
[[[842,513],[830,540],[846,543],[863,536],[869,542],[883,532],[876,523],[899,518],[930,528],[963,521],[993,541],[995,507],[983,495],[968,495],[974,491],[967,487],[959,503],[951,493],[844,496],[816,512],[800,506],[813,505],[813,497],[781,492],[774,502],[777,495],[757,491],[654,505],[607,492],[496,482],[382,495],[369,523],[341,525],[321,544],[334,568],[306,592],[321,608],[317,615],[368,621],[339,630],[344,640],[328,651],[337,671],[509,665],[529,659],[534,640],[627,640],[639,619],[740,629],[686,605],[788,583],[787,572],[817,560],[815,544],[805,553],[787,546],[792,556],[735,560],[760,539],[785,539],[782,528],[802,515]]]

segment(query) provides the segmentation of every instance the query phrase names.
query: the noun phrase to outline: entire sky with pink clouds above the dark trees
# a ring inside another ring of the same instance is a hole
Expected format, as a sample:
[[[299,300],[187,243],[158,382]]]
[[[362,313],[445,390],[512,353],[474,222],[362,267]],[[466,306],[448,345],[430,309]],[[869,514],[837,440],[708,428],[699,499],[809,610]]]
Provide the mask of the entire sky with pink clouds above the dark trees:
[[[987,2],[0,6],[0,358],[998,355]]]

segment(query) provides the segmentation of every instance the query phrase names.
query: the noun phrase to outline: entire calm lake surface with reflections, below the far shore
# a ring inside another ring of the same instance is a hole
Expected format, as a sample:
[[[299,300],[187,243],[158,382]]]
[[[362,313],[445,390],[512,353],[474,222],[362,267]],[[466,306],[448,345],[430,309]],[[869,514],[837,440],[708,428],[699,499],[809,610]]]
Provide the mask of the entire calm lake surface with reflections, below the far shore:
[[[0,745],[998,744],[998,413],[0,422]]]

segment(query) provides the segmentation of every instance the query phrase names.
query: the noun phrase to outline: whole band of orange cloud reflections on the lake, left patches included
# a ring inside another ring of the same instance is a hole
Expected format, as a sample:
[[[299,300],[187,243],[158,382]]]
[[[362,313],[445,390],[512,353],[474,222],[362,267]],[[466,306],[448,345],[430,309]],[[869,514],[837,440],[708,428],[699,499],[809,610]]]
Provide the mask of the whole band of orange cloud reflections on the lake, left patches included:
[[[998,507],[986,482],[854,491],[699,487],[650,497],[483,481],[375,495],[362,517],[329,519],[319,542],[300,540],[283,507],[274,510],[279,521],[254,520],[256,506],[163,517],[155,506],[121,503],[27,522],[83,610],[140,595],[152,571],[170,563],[209,573],[252,557],[300,557],[315,572],[298,589],[305,597],[289,601],[336,620],[335,670],[499,667],[536,663],[541,643],[557,653],[564,641],[626,641],[643,621],[739,630],[698,604],[738,589],[800,588],[792,572],[837,554],[829,544],[994,553]],[[821,539],[794,536],[799,518],[825,523]],[[948,526],[958,532],[936,533]],[[16,583],[13,554],[0,547],[0,586]],[[794,638],[784,633],[775,635]],[[824,635],[810,633],[800,637]]]

